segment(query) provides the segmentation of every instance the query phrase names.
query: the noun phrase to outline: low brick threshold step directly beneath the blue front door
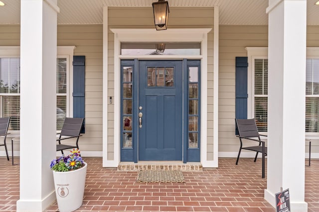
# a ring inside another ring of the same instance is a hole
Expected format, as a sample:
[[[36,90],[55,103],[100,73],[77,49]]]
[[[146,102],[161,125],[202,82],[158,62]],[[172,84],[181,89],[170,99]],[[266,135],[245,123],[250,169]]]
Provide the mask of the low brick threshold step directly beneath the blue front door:
[[[139,171],[139,170],[179,170],[179,171],[202,171],[203,166],[200,162],[182,161],[139,161],[120,162],[118,171]]]

